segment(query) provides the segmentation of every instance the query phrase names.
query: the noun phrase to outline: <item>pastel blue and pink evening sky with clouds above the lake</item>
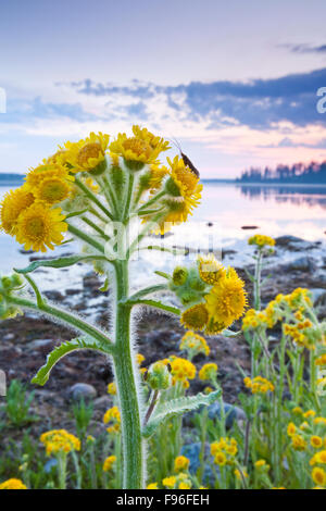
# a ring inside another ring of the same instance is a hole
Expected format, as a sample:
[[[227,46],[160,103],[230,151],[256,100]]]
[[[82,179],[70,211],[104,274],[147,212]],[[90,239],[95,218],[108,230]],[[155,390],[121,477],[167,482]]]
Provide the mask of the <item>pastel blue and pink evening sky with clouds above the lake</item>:
[[[205,178],[326,160],[325,20],[325,0],[0,0],[0,173],[133,124]]]

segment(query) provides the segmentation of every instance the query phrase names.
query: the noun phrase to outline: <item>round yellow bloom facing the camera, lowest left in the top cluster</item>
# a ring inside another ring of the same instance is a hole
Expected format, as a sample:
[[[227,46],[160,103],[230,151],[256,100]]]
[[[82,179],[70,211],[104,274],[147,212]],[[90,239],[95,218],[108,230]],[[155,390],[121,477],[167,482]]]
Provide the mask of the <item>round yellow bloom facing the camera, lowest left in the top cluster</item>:
[[[24,245],[25,250],[46,252],[54,245],[63,240],[63,233],[67,230],[67,224],[61,214],[61,209],[49,209],[42,202],[35,202],[24,210],[16,224],[16,239]]]

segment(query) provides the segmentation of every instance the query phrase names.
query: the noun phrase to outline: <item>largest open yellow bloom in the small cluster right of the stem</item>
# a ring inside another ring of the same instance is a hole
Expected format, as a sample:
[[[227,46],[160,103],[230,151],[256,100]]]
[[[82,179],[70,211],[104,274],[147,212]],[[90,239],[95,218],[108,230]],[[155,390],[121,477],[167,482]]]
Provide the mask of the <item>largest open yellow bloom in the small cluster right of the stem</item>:
[[[247,292],[243,286],[244,283],[237,272],[228,269],[226,275],[220,278],[205,296],[211,322],[227,327],[243,314],[247,307]]]

